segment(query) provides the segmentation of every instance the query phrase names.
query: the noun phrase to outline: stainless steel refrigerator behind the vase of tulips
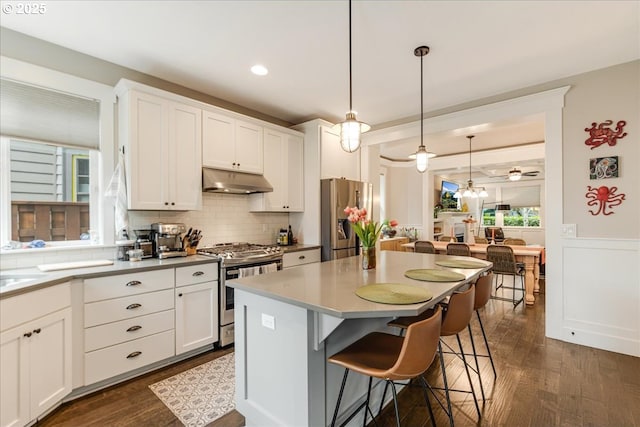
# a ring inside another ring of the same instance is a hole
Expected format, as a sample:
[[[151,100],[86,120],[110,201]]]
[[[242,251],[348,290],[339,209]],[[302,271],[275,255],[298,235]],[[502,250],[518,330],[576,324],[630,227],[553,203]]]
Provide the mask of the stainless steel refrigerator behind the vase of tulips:
[[[344,213],[349,207],[366,208],[371,219],[373,185],[347,179],[320,181],[322,261],[345,258],[360,253],[360,241]]]

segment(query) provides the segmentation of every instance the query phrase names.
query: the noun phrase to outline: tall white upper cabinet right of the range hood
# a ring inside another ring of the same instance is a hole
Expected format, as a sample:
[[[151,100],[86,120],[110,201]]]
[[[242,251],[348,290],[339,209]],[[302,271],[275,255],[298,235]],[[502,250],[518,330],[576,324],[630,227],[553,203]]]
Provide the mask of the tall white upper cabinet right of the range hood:
[[[273,192],[251,194],[251,211],[304,211],[303,144],[299,135],[265,128],[264,177],[273,186]]]

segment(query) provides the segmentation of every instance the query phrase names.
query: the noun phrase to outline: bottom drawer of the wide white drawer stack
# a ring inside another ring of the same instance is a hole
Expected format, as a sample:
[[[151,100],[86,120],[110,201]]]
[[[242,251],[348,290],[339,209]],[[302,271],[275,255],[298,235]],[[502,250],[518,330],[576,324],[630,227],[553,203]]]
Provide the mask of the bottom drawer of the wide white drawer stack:
[[[174,332],[171,330],[86,353],[85,385],[172,357],[174,350]]]

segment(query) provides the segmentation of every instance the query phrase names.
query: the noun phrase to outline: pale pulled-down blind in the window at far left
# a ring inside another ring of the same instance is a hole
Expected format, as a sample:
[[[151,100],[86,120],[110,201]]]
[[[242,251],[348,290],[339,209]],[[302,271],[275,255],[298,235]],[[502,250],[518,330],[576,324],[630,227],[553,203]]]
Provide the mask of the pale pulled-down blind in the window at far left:
[[[100,103],[0,79],[3,135],[72,147],[100,146]]]

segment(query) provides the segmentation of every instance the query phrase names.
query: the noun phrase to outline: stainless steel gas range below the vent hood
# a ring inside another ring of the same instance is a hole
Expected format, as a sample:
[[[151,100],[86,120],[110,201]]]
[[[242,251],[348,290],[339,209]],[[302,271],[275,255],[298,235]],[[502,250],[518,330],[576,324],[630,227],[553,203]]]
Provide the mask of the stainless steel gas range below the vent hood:
[[[221,243],[202,247],[198,254],[220,260],[220,346],[233,343],[234,298],[227,280],[282,270],[282,249],[275,245],[253,243]]]

